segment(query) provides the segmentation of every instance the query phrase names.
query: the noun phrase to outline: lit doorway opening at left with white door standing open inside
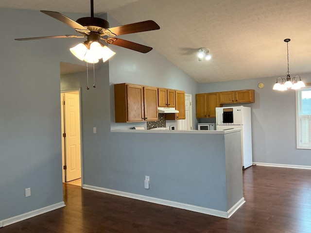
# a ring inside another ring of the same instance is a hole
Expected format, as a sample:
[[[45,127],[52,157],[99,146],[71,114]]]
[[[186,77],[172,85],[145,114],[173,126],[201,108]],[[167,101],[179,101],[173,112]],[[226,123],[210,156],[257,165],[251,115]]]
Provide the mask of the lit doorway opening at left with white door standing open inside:
[[[80,89],[61,92],[63,183],[81,186]]]

